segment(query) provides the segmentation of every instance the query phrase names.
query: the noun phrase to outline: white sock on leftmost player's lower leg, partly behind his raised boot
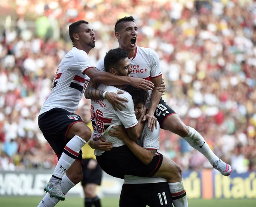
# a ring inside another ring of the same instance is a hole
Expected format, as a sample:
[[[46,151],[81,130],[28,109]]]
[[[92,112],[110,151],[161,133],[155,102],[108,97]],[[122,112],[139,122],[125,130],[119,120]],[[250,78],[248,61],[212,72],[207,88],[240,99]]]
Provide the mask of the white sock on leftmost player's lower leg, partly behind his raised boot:
[[[71,188],[73,188],[75,184],[70,181],[67,175],[64,175],[61,181],[61,189],[64,194],[67,194]],[[38,204],[38,207],[54,207],[59,200],[57,198],[51,198],[50,194],[47,193],[44,198]]]

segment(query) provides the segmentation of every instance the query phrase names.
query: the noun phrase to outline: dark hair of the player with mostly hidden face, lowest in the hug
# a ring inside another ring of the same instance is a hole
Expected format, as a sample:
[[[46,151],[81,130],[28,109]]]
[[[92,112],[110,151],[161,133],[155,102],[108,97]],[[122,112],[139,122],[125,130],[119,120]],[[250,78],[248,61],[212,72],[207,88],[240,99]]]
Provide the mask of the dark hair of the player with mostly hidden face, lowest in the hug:
[[[134,101],[134,105],[137,106],[139,103],[146,104],[148,99],[148,91],[145,89],[138,89],[132,85],[128,85],[125,88],[125,91],[131,95],[132,100]]]

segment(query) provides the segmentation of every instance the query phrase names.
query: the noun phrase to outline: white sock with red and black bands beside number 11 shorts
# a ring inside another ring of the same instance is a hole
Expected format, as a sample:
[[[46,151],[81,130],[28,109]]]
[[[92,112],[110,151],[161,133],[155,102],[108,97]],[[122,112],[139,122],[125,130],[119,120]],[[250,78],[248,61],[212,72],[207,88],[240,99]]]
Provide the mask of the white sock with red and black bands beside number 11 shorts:
[[[188,198],[186,190],[183,186],[183,181],[177,183],[168,183],[172,196],[172,203],[175,207],[188,207]]]

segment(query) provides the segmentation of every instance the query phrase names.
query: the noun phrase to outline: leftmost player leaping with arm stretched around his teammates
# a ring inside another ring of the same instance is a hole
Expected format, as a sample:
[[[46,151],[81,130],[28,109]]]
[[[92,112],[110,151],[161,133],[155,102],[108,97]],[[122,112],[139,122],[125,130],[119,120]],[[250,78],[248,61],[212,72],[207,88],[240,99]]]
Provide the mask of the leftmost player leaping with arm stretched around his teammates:
[[[59,158],[52,178],[44,189],[49,194],[39,204],[43,207],[54,206],[55,200],[49,196],[64,200],[65,194],[82,179],[81,148],[90,139],[91,130],[74,112],[89,79],[111,85],[131,84],[143,89],[154,88],[152,83],[141,78],[124,78],[97,70],[88,56],[96,42],[88,22],[80,20],[72,23],[69,35],[73,49],[61,60],[50,95],[38,117],[39,128]],[[96,97],[109,99],[112,103],[117,100],[126,101],[115,93],[94,93]]]

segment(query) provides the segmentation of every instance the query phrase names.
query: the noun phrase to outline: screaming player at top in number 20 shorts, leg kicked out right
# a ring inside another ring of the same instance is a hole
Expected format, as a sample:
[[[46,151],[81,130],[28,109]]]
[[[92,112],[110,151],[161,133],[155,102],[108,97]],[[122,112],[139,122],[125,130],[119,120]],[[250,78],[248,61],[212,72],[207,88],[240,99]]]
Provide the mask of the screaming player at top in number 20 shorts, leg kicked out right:
[[[175,111],[161,98],[161,93],[157,90],[157,86],[162,83],[160,60],[153,49],[136,45],[138,27],[134,22],[134,17],[124,17],[117,20],[115,24],[115,36],[119,42],[119,48],[125,49],[128,52],[130,65],[133,69],[131,76],[150,80],[156,86],[154,89],[149,90],[149,98],[146,103],[147,114],[144,119],[148,120],[149,129],[153,130],[154,126],[157,127],[156,123],[158,121],[162,129],[179,135],[190,146],[201,152],[210,164],[223,175],[230,175],[232,171],[230,165],[219,159],[212,152],[204,138],[194,128],[186,126]],[[97,68],[105,71],[103,59],[99,61]],[[154,117],[157,118],[157,121]]]

